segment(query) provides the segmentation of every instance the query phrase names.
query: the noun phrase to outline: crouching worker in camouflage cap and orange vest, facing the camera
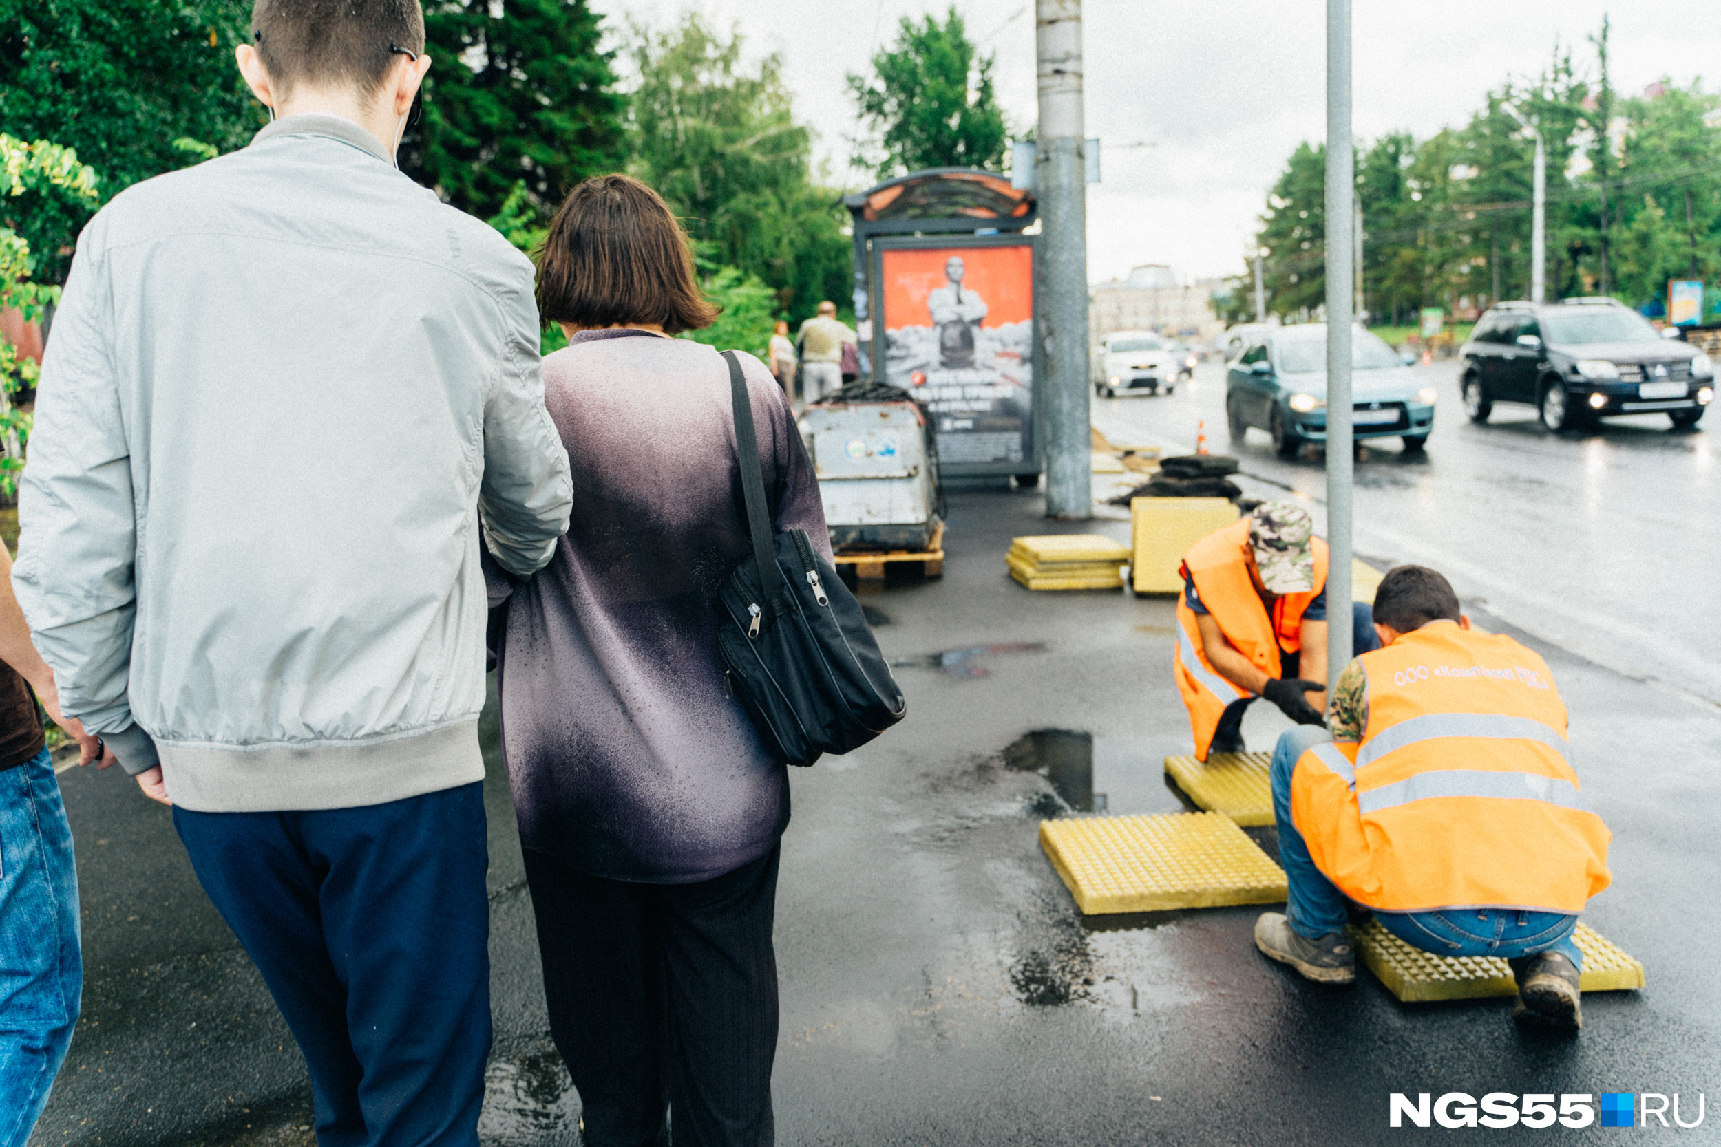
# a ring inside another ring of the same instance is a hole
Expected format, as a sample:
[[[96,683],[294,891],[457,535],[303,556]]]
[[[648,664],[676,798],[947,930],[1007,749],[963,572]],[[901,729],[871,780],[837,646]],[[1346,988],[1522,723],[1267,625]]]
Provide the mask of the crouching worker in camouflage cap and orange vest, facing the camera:
[[[1184,554],[1177,598],[1177,691],[1194,755],[1241,753],[1256,696],[1317,726],[1327,698],[1327,543],[1296,502],[1261,502]],[[1353,604],[1353,653],[1379,647]]]

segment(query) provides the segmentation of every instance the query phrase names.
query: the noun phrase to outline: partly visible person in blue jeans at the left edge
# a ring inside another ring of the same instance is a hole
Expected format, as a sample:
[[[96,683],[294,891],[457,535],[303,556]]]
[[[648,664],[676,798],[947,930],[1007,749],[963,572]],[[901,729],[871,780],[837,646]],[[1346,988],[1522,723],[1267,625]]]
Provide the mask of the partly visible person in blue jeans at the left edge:
[[[114,755],[60,715],[53,672],[12,597],[3,545],[0,662],[0,1147],[24,1147],[72,1044],[84,985],[72,831],[36,702],[77,739],[77,764],[100,755],[107,769]]]

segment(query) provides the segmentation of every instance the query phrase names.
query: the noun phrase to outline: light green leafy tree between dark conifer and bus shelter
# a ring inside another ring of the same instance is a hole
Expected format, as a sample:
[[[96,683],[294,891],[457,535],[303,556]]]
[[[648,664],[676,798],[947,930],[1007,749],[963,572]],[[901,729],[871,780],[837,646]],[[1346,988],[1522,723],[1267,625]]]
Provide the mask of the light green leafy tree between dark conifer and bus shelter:
[[[688,14],[666,33],[633,26],[628,170],[657,189],[712,261],[771,287],[792,318],[850,294],[840,193],[812,174],[783,60],[742,64],[742,38]]]

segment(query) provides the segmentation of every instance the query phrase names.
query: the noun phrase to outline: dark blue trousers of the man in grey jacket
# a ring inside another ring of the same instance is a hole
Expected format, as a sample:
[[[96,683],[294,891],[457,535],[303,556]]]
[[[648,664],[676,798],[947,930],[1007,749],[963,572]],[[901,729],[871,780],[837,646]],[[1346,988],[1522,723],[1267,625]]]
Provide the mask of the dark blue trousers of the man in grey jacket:
[[[477,1147],[490,1052],[482,784],[174,827],[305,1052],[320,1147]]]

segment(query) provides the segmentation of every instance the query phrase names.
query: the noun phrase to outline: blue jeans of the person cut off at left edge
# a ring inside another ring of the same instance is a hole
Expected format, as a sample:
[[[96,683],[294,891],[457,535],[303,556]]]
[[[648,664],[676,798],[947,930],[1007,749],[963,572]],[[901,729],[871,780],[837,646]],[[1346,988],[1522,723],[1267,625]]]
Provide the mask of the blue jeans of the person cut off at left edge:
[[[0,770],[0,1147],[22,1147],[77,1025],[72,831],[48,750]]]

